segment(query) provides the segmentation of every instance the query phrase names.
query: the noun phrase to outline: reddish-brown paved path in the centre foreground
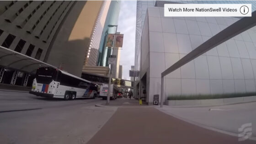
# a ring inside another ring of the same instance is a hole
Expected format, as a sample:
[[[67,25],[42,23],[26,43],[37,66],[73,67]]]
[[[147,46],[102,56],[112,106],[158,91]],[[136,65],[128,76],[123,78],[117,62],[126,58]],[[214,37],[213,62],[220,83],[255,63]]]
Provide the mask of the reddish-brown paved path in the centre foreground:
[[[87,144],[255,144],[204,129],[155,108],[118,108]]]

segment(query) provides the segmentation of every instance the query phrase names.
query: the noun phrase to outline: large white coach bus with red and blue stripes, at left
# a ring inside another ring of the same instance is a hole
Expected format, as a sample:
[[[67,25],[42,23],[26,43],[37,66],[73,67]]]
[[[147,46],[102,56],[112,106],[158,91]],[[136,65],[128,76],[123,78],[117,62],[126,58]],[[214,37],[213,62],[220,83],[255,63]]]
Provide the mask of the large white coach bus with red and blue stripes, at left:
[[[88,80],[63,70],[41,67],[37,69],[32,90],[29,93],[43,97],[73,100],[75,98],[95,98],[97,90],[97,84]]]

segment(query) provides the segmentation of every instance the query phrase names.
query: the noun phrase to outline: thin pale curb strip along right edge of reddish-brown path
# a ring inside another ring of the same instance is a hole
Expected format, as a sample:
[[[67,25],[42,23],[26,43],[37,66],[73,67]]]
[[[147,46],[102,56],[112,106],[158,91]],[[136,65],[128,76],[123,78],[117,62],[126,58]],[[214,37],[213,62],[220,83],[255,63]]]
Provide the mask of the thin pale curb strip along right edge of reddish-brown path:
[[[238,138],[238,133],[234,133],[234,132],[230,132],[230,131],[225,131],[225,130],[223,130],[223,129],[213,128],[213,127],[208,126],[208,125],[205,125],[205,124],[200,124],[200,123],[194,122],[194,121],[192,121],[192,120],[182,118],[182,117],[180,117],[180,116],[178,116],[178,115],[176,115],[176,114],[168,113],[168,112],[162,110],[161,108],[156,108],[156,109],[158,109],[158,110],[159,110],[160,112],[162,112],[162,113],[168,114],[168,115],[170,115],[170,116],[172,116],[172,117],[174,117],[174,118],[176,118],[176,119],[180,119],[180,120],[185,121],[185,122],[187,122],[187,123],[189,123],[189,124],[194,124],[194,125],[196,125],[196,126],[199,126],[199,127],[201,127],[201,128],[204,128],[204,129],[213,130],[213,131],[216,131],[216,132],[219,132],[219,133],[222,133],[222,134],[228,134],[228,135],[231,135],[231,136],[234,136],[234,137],[237,137],[237,138]],[[255,136],[251,136],[249,139],[256,141],[256,137],[255,137]]]

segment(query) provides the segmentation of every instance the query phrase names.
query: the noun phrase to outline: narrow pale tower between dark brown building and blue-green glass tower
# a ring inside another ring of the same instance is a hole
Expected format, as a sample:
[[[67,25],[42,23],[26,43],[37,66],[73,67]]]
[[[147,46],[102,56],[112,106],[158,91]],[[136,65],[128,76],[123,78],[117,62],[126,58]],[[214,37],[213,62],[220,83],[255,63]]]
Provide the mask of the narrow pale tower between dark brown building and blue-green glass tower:
[[[91,39],[89,44],[89,50],[85,57],[86,66],[96,66],[97,56],[101,41],[101,35],[103,31],[103,27],[107,17],[107,11],[109,9],[111,1],[103,1],[101,10],[97,16],[97,20],[95,22],[93,32],[91,33]]]

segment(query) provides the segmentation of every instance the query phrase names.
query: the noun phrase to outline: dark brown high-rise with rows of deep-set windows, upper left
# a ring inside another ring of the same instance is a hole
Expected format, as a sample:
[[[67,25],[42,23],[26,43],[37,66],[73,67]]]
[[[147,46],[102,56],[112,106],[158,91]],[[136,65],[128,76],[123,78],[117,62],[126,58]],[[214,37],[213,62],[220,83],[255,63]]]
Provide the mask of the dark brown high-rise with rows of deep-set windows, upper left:
[[[102,1],[0,1],[0,45],[81,75]]]

